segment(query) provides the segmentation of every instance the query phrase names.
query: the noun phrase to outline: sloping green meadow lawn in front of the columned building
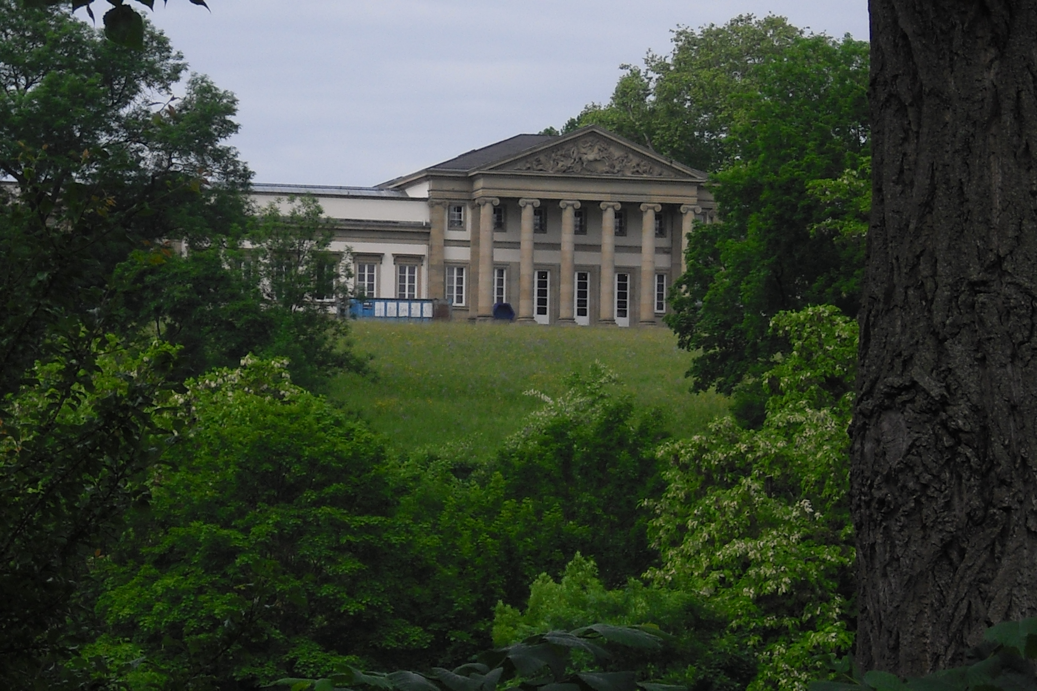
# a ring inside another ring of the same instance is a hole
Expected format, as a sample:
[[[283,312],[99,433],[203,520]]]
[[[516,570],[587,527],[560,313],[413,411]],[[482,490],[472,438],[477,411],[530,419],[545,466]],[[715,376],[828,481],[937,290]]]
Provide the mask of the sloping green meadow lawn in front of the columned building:
[[[356,347],[374,355],[376,378],[353,374],[330,396],[362,414],[400,449],[469,443],[492,452],[541,403],[530,388],[554,396],[573,370],[595,359],[618,373],[636,401],[668,411],[677,436],[699,432],[727,409],[723,396],[692,395],[689,353],[660,328],[564,328],[468,322],[351,324]]]

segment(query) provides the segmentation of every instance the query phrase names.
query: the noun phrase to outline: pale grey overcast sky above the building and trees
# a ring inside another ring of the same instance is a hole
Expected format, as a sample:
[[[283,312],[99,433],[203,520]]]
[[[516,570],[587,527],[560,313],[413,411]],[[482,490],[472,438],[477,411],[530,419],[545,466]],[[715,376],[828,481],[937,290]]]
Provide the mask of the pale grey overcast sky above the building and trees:
[[[257,182],[372,185],[609,99],[677,25],[782,15],[868,37],[867,0],[187,0],[150,17],[233,91]]]

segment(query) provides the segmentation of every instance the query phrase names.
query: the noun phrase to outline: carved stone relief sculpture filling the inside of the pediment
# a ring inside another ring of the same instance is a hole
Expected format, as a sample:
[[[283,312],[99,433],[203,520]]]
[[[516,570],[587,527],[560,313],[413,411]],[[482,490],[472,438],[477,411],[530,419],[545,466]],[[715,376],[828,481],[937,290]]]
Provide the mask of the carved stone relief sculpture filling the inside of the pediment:
[[[561,146],[520,159],[502,170],[573,175],[677,177],[660,164],[610,142],[604,137],[581,137]]]

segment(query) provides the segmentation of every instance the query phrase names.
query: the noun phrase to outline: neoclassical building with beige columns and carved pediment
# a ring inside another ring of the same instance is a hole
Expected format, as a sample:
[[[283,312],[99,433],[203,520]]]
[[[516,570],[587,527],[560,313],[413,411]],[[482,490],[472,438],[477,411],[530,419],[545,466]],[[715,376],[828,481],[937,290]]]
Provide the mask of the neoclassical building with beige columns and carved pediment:
[[[453,319],[650,325],[682,272],[706,174],[597,126],[517,135],[374,188],[256,184],[260,203],[312,194],[357,294],[433,298]]]

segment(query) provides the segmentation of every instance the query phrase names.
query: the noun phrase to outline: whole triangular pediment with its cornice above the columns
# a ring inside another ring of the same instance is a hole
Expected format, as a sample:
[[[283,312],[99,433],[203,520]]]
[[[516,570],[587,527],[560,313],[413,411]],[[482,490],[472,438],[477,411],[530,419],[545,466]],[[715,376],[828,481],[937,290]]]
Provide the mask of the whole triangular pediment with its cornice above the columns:
[[[551,175],[697,179],[697,171],[636,147],[599,127],[578,129],[560,141],[538,146],[484,168],[494,172]],[[701,175],[704,177],[704,175]]]

